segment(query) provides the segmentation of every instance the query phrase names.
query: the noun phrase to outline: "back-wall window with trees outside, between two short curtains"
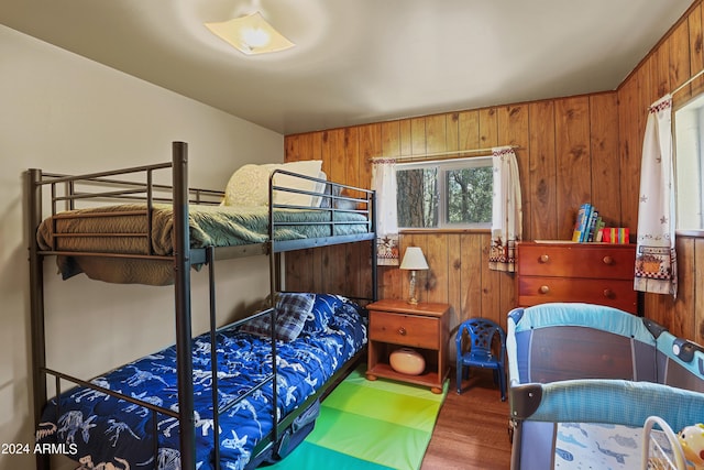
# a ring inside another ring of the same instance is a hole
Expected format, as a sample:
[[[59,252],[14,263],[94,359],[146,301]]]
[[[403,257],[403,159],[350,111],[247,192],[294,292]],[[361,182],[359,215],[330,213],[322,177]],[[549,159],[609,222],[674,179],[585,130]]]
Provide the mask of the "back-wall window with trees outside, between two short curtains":
[[[491,156],[396,168],[399,228],[491,228]]]

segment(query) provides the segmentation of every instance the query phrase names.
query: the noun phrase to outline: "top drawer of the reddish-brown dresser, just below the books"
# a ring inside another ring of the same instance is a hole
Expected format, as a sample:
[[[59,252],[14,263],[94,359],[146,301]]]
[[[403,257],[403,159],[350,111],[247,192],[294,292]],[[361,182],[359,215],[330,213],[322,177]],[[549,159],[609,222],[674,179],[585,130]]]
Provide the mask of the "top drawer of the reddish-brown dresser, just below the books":
[[[630,245],[520,244],[519,275],[631,280],[636,251]]]

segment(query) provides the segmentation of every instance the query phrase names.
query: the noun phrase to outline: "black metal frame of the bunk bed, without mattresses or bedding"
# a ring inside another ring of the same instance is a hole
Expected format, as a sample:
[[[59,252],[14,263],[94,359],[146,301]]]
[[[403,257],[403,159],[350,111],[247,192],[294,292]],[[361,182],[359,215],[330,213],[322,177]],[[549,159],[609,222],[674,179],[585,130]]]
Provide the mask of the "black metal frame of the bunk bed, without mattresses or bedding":
[[[131,167],[131,168],[122,168],[111,172],[102,172],[102,173],[92,173],[88,175],[79,175],[79,176],[67,176],[59,174],[48,174],[42,173],[41,170],[31,168],[26,172],[26,209],[29,211],[28,216],[28,240],[29,240],[29,261],[30,261],[30,309],[31,309],[31,334],[32,334],[32,370],[33,370],[33,407],[34,407],[34,418],[35,426],[38,428],[40,418],[42,414],[43,406],[47,403],[47,380],[48,376],[53,376],[55,380],[55,393],[56,396],[61,394],[61,382],[62,380],[70,382],[73,384],[87,386],[98,392],[117,396],[121,400],[128,401],[130,403],[140,405],[150,409],[153,415],[153,434],[155,436],[154,439],[154,455],[156,461],[157,453],[157,429],[156,429],[156,414],[167,415],[178,419],[179,423],[179,446],[180,446],[180,461],[183,469],[194,469],[196,466],[195,456],[195,418],[194,418],[194,386],[191,382],[193,378],[193,357],[191,357],[191,348],[190,343],[193,340],[191,332],[191,298],[190,298],[190,269],[193,265],[206,264],[209,266],[208,276],[209,276],[209,298],[210,298],[210,341],[211,348],[215,349],[215,337],[217,334],[216,326],[216,302],[215,302],[215,269],[213,262],[216,260],[223,259],[232,259],[232,258],[242,258],[254,254],[267,254],[270,258],[270,298],[274,299],[274,294],[278,291],[279,287],[279,277],[278,277],[278,253],[284,253],[287,251],[294,250],[302,250],[309,248],[318,248],[331,244],[341,244],[341,243],[352,243],[359,241],[371,241],[371,256],[372,256],[372,297],[370,300],[375,300],[377,298],[377,269],[376,269],[376,242],[375,242],[375,217],[374,217],[374,206],[375,206],[375,195],[374,192],[363,188],[356,188],[353,186],[336,184],[332,182],[324,182],[317,178],[311,178],[304,175],[296,175],[294,173],[285,172],[277,170],[276,173],[282,173],[295,177],[302,177],[306,179],[311,179],[319,183],[324,183],[327,185],[337,186],[339,188],[346,188],[355,192],[355,194],[361,194],[362,196],[339,196],[332,194],[324,195],[323,197],[329,198],[331,200],[330,207],[328,210],[330,212],[330,220],[328,222],[319,222],[326,223],[330,226],[330,236],[329,237],[318,237],[310,239],[301,239],[301,240],[282,240],[276,241],[274,238],[274,232],[277,226],[277,222],[274,220],[274,209],[284,208],[284,209],[307,209],[305,207],[298,206],[287,206],[287,205],[277,205],[274,204],[274,194],[275,192],[287,192],[287,193],[299,193],[306,194],[310,196],[320,196],[318,193],[309,193],[300,189],[290,189],[283,186],[277,186],[274,184],[274,174],[272,174],[270,178],[270,222],[268,222],[268,241],[264,243],[256,244],[246,244],[246,245],[238,245],[238,247],[227,247],[227,248],[199,248],[193,249],[190,247],[190,236],[189,236],[189,223],[188,216],[189,209],[188,206],[191,203],[195,204],[219,204],[219,200],[215,200],[216,198],[220,198],[222,196],[222,192],[216,190],[207,190],[207,189],[190,189],[188,187],[188,145],[185,142],[174,142],[172,145],[173,159],[170,163],[155,164],[155,165],[145,165],[140,167]],[[172,168],[173,172],[173,185],[158,185],[153,182],[153,173],[158,170]],[[113,179],[118,175],[127,175],[127,174],[144,174],[145,182],[144,183],[133,183],[125,182],[122,179]],[[80,193],[75,189],[75,185],[78,182],[82,183],[95,183],[99,185],[107,186],[118,186],[120,189],[116,190],[101,190],[98,193]],[[147,233],[143,233],[144,237],[147,237],[151,240],[151,214],[153,209],[153,205],[156,201],[170,201],[173,204],[174,210],[174,254],[170,256],[160,256],[155,255],[151,250],[146,254],[116,254],[116,253],[88,253],[88,252],[62,252],[56,250],[42,251],[40,250],[36,243],[36,230],[40,223],[43,220],[44,211],[43,211],[43,187],[51,186],[52,189],[52,215],[55,216],[57,212],[56,205],[57,203],[64,203],[67,206],[67,209],[75,208],[75,203],[77,200],[100,200],[101,198],[111,198],[111,199],[128,199],[128,200],[145,200],[146,201],[146,212],[144,216],[147,221]],[[57,195],[57,185],[65,185],[65,195]],[[170,190],[170,197],[167,199],[158,198],[155,196],[155,193],[168,192]],[[142,196],[139,196],[142,195]],[[358,234],[346,234],[346,236],[336,236],[334,227],[338,223],[345,222],[337,222],[334,221],[334,212],[339,209],[336,209],[336,205],[332,204],[334,200],[345,200],[348,203],[352,203],[355,205],[361,205],[363,208],[359,209],[341,209],[342,211],[355,211],[364,214],[366,217],[366,232],[358,233]],[[323,210],[323,209],[321,209]],[[290,222],[282,222],[282,225],[290,226]],[[54,371],[47,368],[46,365],[46,336],[44,330],[44,276],[43,276],[43,259],[45,256],[51,255],[70,255],[70,256],[79,256],[79,255],[99,255],[99,256],[108,256],[108,258],[131,258],[131,259],[161,259],[161,260],[172,260],[174,263],[174,302],[175,302],[175,326],[176,326],[176,357],[177,357],[177,380],[178,380],[178,412],[174,412],[172,409],[166,409],[160,406],[155,406],[153,404],[142,402],[138,398],[133,398],[131,396],[122,395],[114,391],[103,389],[99,385],[91,383],[90,381],[84,381],[75,376],[70,376],[68,374],[64,374],[58,371]],[[272,300],[273,302],[273,300]],[[270,308],[262,310],[253,316],[244,318],[237,324],[242,324],[249,321],[253,318],[256,318],[261,315],[271,315],[272,317],[272,358],[276,357],[276,341],[274,339],[274,328],[275,324],[275,309],[273,305],[270,305]],[[359,356],[359,354],[358,354]],[[213,455],[215,455],[215,464],[216,468],[220,468],[219,462],[219,435],[218,435],[218,415],[219,413],[223,413],[230,406],[238,403],[240,400],[249,396],[251,393],[254,393],[256,390],[261,389],[268,381],[273,381],[273,408],[272,408],[272,419],[273,419],[273,431],[268,436],[268,439],[263,439],[260,445],[254,449],[253,456],[257,456],[267,447],[271,447],[277,442],[280,438],[280,429],[285,429],[287,425],[289,425],[295,418],[295,413],[289,414],[289,416],[284,417],[280,422],[278,422],[276,417],[276,361],[273,360],[272,369],[273,373],[262,383],[252,387],[252,390],[239,397],[233,403],[220,407],[217,400],[217,354],[213,350],[211,350],[212,361],[212,393],[213,393],[213,418],[215,418],[215,436],[213,436]],[[350,361],[353,362],[353,361]],[[345,373],[345,369],[339,370],[329,381],[329,383],[334,383],[339,378]],[[306,407],[312,403],[315,400],[318,400],[323,393],[327,392],[327,387],[322,387],[319,390],[314,396],[310,396],[302,405],[300,405],[297,411],[305,411]],[[46,455],[36,455],[36,468],[37,469],[48,469],[50,461],[48,456]]]

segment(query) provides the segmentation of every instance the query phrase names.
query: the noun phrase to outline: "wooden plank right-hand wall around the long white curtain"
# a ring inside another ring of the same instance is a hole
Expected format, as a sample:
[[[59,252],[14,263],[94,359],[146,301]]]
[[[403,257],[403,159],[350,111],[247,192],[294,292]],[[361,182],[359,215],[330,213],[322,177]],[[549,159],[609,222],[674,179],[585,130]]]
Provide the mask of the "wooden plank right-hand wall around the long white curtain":
[[[682,19],[653,47],[617,90],[619,156],[624,192],[638,194],[642,138],[647,108],[663,95],[675,90],[704,68],[702,54],[702,2],[695,1]],[[676,110],[693,96],[704,91],[696,79],[673,95]],[[637,226],[638,200],[622,200],[622,211],[629,227]],[[704,269],[704,239],[678,237],[679,293],[671,296],[646,294],[644,314],[674,335],[704,343],[704,284],[697,269]],[[698,287],[698,288],[697,288]],[[698,296],[697,296],[698,293]]]

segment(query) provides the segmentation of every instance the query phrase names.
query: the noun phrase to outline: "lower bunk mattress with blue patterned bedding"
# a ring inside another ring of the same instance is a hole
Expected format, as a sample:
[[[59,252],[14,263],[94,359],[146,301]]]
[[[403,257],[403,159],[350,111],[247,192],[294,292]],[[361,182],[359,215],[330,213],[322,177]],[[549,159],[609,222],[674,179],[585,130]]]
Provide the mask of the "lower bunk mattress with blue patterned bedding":
[[[339,296],[314,295],[297,338],[276,341],[277,400],[280,418],[322,387],[366,345],[366,319],[356,304]],[[209,334],[194,340],[196,461],[213,464],[212,374]],[[217,334],[219,406],[250,391],[272,373],[271,340],[226,328]],[[127,396],[176,411],[176,349],[166,348],[92,380]],[[272,419],[273,384],[219,415],[220,464],[243,469],[255,446],[266,439]],[[156,419],[156,424],[154,420]],[[156,425],[158,451],[153,428]],[[37,440],[63,444],[82,468],[180,469],[178,420],[87,387],[75,387],[51,400],[42,415]]]

